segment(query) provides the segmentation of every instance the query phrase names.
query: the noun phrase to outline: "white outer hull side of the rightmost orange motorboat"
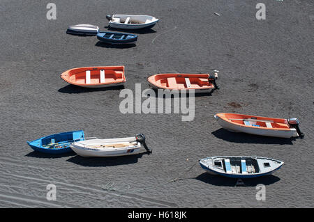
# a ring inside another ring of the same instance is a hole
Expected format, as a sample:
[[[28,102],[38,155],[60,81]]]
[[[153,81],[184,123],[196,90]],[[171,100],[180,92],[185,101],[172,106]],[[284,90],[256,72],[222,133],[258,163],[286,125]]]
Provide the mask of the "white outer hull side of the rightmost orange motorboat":
[[[276,130],[276,129],[258,129],[253,127],[245,127],[241,125],[235,125],[230,122],[227,122],[218,116],[215,115],[215,118],[218,120],[218,124],[224,129],[229,130],[230,132],[242,132],[246,134],[255,134],[260,136],[274,136],[281,138],[291,138],[292,136],[298,136],[297,130],[290,128],[287,130]]]

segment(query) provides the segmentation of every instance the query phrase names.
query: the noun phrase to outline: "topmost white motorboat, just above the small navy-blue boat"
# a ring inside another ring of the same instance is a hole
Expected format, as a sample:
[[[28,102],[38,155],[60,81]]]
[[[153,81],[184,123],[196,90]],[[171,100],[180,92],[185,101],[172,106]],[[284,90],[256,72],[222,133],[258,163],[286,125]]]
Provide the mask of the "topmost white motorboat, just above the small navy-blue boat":
[[[159,19],[150,15],[107,15],[109,26],[115,29],[144,29],[153,27]]]

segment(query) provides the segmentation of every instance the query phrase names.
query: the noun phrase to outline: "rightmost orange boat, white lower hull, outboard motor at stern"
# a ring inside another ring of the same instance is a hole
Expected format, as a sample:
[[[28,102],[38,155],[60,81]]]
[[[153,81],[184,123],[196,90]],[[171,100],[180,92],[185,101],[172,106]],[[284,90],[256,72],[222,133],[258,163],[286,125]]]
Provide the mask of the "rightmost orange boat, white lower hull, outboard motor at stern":
[[[283,138],[292,136],[303,138],[304,136],[299,129],[297,118],[280,119],[236,113],[217,113],[214,117],[221,127],[231,132]]]

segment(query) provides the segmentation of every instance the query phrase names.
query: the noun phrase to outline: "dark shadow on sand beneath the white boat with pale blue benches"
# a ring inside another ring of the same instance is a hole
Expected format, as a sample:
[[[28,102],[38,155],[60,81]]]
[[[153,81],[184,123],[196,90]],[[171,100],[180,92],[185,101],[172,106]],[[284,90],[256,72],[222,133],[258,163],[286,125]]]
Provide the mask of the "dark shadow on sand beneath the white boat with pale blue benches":
[[[267,175],[263,177],[255,177],[250,179],[241,179],[244,182],[244,185],[237,184],[238,179],[223,177],[219,175],[211,175],[209,173],[202,173],[195,177],[195,180],[200,180],[207,184],[214,186],[224,186],[224,187],[256,187],[257,184],[264,184],[265,186],[274,184],[281,180],[279,177],[274,175]]]

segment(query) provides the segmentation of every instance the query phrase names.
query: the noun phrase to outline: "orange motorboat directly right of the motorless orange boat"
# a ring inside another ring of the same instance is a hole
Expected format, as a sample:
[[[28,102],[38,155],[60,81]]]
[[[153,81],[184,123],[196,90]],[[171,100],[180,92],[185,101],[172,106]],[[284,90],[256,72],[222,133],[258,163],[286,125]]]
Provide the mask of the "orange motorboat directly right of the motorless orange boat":
[[[216,79],[218,70],[211,74],[154,74],[148,77],[152,88],[169,90],[195,90],[195,93],[209,93],[214,88],[218,89]]]

